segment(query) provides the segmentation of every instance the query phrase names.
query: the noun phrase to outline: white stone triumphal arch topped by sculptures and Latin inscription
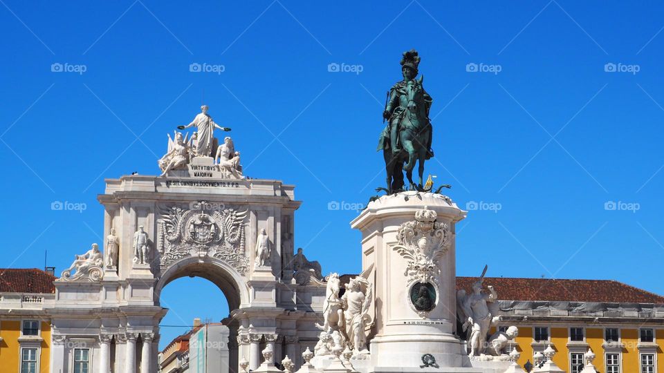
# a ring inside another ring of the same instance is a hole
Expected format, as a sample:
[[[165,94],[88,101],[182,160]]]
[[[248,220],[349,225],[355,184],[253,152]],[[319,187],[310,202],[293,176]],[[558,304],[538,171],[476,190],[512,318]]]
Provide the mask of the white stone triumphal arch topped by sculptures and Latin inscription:
[[[196,120],[192,137],[169,135],[162,176],[105,180],[103,250],[77,256],[56,282],[53,372],[68,372],[76,341],[98,346],[95,372],[156,371],[160,292],[183,276],[228,299],[230,371],[238,356],[257,368],[266,345],[291,356],[300,340],[315,345],[325,287],[320,265],[294,251],[295,187],[246,178],[232,139],[217,144],[210,116]]]

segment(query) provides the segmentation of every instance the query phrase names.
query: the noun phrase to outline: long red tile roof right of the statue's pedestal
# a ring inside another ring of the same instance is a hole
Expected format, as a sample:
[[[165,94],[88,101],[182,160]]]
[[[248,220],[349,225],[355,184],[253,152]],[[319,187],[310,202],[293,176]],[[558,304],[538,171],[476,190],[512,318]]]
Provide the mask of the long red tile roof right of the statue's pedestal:
[[[457,289],[470,291],[477,277],[457,277]],[[656,303],[664,296],[615,280],[562,280],[551,278],[484,278],[499,300],[543,300],[561,302]]]

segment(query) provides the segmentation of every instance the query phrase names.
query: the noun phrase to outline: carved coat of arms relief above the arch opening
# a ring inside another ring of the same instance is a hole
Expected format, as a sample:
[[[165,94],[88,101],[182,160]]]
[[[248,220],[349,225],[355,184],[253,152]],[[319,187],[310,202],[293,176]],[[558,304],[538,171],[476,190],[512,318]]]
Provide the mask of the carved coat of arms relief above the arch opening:
[[[246,274],[245,226],[248,210],[218,202],[193,202],[189,208],[160,208],[158,249],[160,271],[187,256],[211,256]]]

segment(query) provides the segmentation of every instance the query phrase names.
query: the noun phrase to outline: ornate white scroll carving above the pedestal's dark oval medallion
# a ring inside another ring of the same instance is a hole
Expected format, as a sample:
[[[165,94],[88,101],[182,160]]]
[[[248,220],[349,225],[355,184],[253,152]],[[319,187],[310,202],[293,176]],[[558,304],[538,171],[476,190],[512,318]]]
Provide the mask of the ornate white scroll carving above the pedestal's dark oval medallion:
[[[418,210],[415,220],[401,224],[394,250],[408,260],[404,276],[410,281],[438,283],[438,262],[452,246],[452,229],[446,222],[436,222],[436,211]]]

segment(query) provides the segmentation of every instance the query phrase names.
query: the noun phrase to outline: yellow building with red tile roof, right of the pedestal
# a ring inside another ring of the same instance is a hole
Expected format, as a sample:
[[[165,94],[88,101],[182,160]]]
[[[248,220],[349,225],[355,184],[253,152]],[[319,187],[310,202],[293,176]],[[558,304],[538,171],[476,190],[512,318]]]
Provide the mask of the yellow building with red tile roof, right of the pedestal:
[[[461,280],[460,280],[461,279]],[[465,288],[474,278],[457,278]],[[601,373],[664,373],[664,297],[612,280],[486,278],[497,291],[502,320],[519,335],[508,345],[521,352],[519,365],[548,345],[553,362],[578,373],[583,354],[596,355]]]

